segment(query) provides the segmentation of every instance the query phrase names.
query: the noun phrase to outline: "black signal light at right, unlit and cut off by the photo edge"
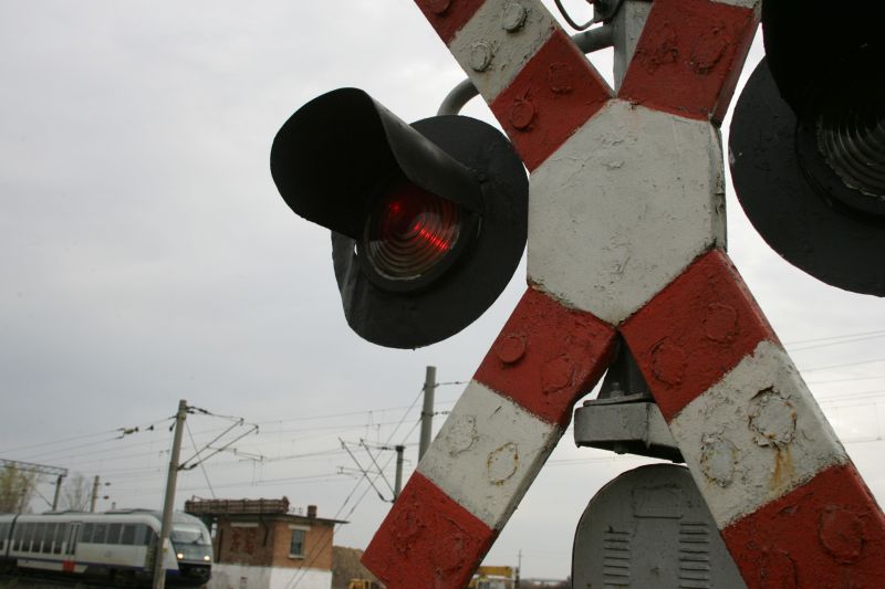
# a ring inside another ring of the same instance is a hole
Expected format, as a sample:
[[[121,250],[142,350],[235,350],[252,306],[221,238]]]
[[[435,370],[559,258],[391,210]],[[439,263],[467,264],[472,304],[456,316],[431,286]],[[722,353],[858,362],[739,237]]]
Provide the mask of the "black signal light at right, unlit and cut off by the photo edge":
[[[788,262],[885,296],[885,3],[762,3],[766,59],[729,152],[750,222]]]

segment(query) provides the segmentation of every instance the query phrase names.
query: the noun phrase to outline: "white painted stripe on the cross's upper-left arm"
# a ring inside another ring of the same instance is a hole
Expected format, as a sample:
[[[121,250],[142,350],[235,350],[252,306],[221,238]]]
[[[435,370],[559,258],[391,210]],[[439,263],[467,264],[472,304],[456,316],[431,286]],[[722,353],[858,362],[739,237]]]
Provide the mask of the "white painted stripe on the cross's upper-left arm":
[[[554,22],[537,0],[487,0],[449,51],[490,103],[550,38]]]

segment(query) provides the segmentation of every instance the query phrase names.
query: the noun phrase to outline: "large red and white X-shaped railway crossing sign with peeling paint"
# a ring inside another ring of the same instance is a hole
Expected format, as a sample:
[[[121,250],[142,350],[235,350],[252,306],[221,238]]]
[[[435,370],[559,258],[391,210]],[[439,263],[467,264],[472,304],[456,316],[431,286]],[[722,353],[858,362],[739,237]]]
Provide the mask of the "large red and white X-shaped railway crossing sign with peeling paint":
[[[654,0],[614,92],[538,0],[416,0],[531,172],[529,287],[363,562],[460,589],[621,333],[749,587],[882,587],[885,517],[725,252],[759,0]]]

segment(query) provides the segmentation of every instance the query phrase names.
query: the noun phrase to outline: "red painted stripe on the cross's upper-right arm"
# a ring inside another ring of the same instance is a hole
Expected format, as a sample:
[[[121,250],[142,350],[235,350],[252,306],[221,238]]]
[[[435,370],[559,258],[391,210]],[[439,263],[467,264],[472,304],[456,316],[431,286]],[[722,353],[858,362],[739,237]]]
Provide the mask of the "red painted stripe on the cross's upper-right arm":
[[[758,24],[747,8],[655,0],[618,97],[721,122]]]

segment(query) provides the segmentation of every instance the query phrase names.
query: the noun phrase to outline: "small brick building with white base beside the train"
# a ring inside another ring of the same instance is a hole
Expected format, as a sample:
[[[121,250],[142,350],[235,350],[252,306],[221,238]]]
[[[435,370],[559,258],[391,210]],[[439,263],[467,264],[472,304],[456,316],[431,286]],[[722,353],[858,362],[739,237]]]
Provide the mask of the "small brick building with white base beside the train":
[[[317,517],[316,506],[293,513],[289,499],[191,499],[185,512],[212,530],[209,589],[332,587],[332,544],[337,519]]]

